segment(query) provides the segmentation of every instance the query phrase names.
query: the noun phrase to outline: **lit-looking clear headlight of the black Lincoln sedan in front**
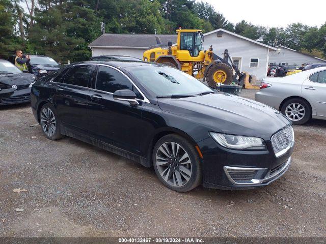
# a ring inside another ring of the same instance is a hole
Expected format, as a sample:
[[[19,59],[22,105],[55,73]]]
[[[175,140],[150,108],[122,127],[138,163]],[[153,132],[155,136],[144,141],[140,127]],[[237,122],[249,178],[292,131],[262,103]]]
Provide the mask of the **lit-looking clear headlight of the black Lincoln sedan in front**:
[[[266,145],[263,139],[258,137],[234,136],[210,132],[210,136],[221,146],[231,149],[263,150]]]

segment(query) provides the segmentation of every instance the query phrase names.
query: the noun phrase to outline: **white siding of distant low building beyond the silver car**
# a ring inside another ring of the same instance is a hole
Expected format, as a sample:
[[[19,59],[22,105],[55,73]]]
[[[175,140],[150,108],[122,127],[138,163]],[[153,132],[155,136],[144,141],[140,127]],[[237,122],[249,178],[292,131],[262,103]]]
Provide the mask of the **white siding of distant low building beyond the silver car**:
[[[301,66],[302,64],[319,64],[319,63],[326,63],[323,60],[318,58],[314,58],[304,53],[295,52],[283,47],[277,47],[279,51],[271,51],[269,53],[269,62],[268,63],[287,63],[288,65],[296,65]]]

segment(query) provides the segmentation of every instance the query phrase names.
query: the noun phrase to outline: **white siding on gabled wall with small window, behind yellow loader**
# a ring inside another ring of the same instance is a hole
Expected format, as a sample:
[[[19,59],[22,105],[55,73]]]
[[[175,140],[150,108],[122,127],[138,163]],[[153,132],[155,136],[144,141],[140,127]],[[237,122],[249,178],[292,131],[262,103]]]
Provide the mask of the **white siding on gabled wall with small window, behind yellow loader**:
[[[210,45],[213,45],[213,52],[220,57],[223,57],[225,49],[228,49],[231,57],[242,57],[241,72],[256,75],[257,80],[266,77],[268,48],[228,33],[218,37],[217,32],[205,36],[204,48],[208,49]],[[258,67],[250,67],[250,58],[259,58]]]

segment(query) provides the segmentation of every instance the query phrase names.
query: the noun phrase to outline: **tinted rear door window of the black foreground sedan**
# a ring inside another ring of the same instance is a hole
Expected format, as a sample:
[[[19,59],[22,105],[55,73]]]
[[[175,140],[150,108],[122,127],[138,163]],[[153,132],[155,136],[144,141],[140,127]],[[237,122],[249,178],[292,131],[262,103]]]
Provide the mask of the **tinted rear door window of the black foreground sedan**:
[[[78,65],[73,67],[64,79],[65,84],[87,87],[92,73],[92,65]]]

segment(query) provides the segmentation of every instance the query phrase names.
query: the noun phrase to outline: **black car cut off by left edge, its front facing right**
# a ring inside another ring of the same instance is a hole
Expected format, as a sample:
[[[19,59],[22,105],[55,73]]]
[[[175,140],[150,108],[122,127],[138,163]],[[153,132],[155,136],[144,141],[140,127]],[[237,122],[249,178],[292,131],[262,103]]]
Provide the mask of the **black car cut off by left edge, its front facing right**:
[[[9,61],[0,59],[0,105],[30,102],[33,82],[35,75],[23,73]]]

